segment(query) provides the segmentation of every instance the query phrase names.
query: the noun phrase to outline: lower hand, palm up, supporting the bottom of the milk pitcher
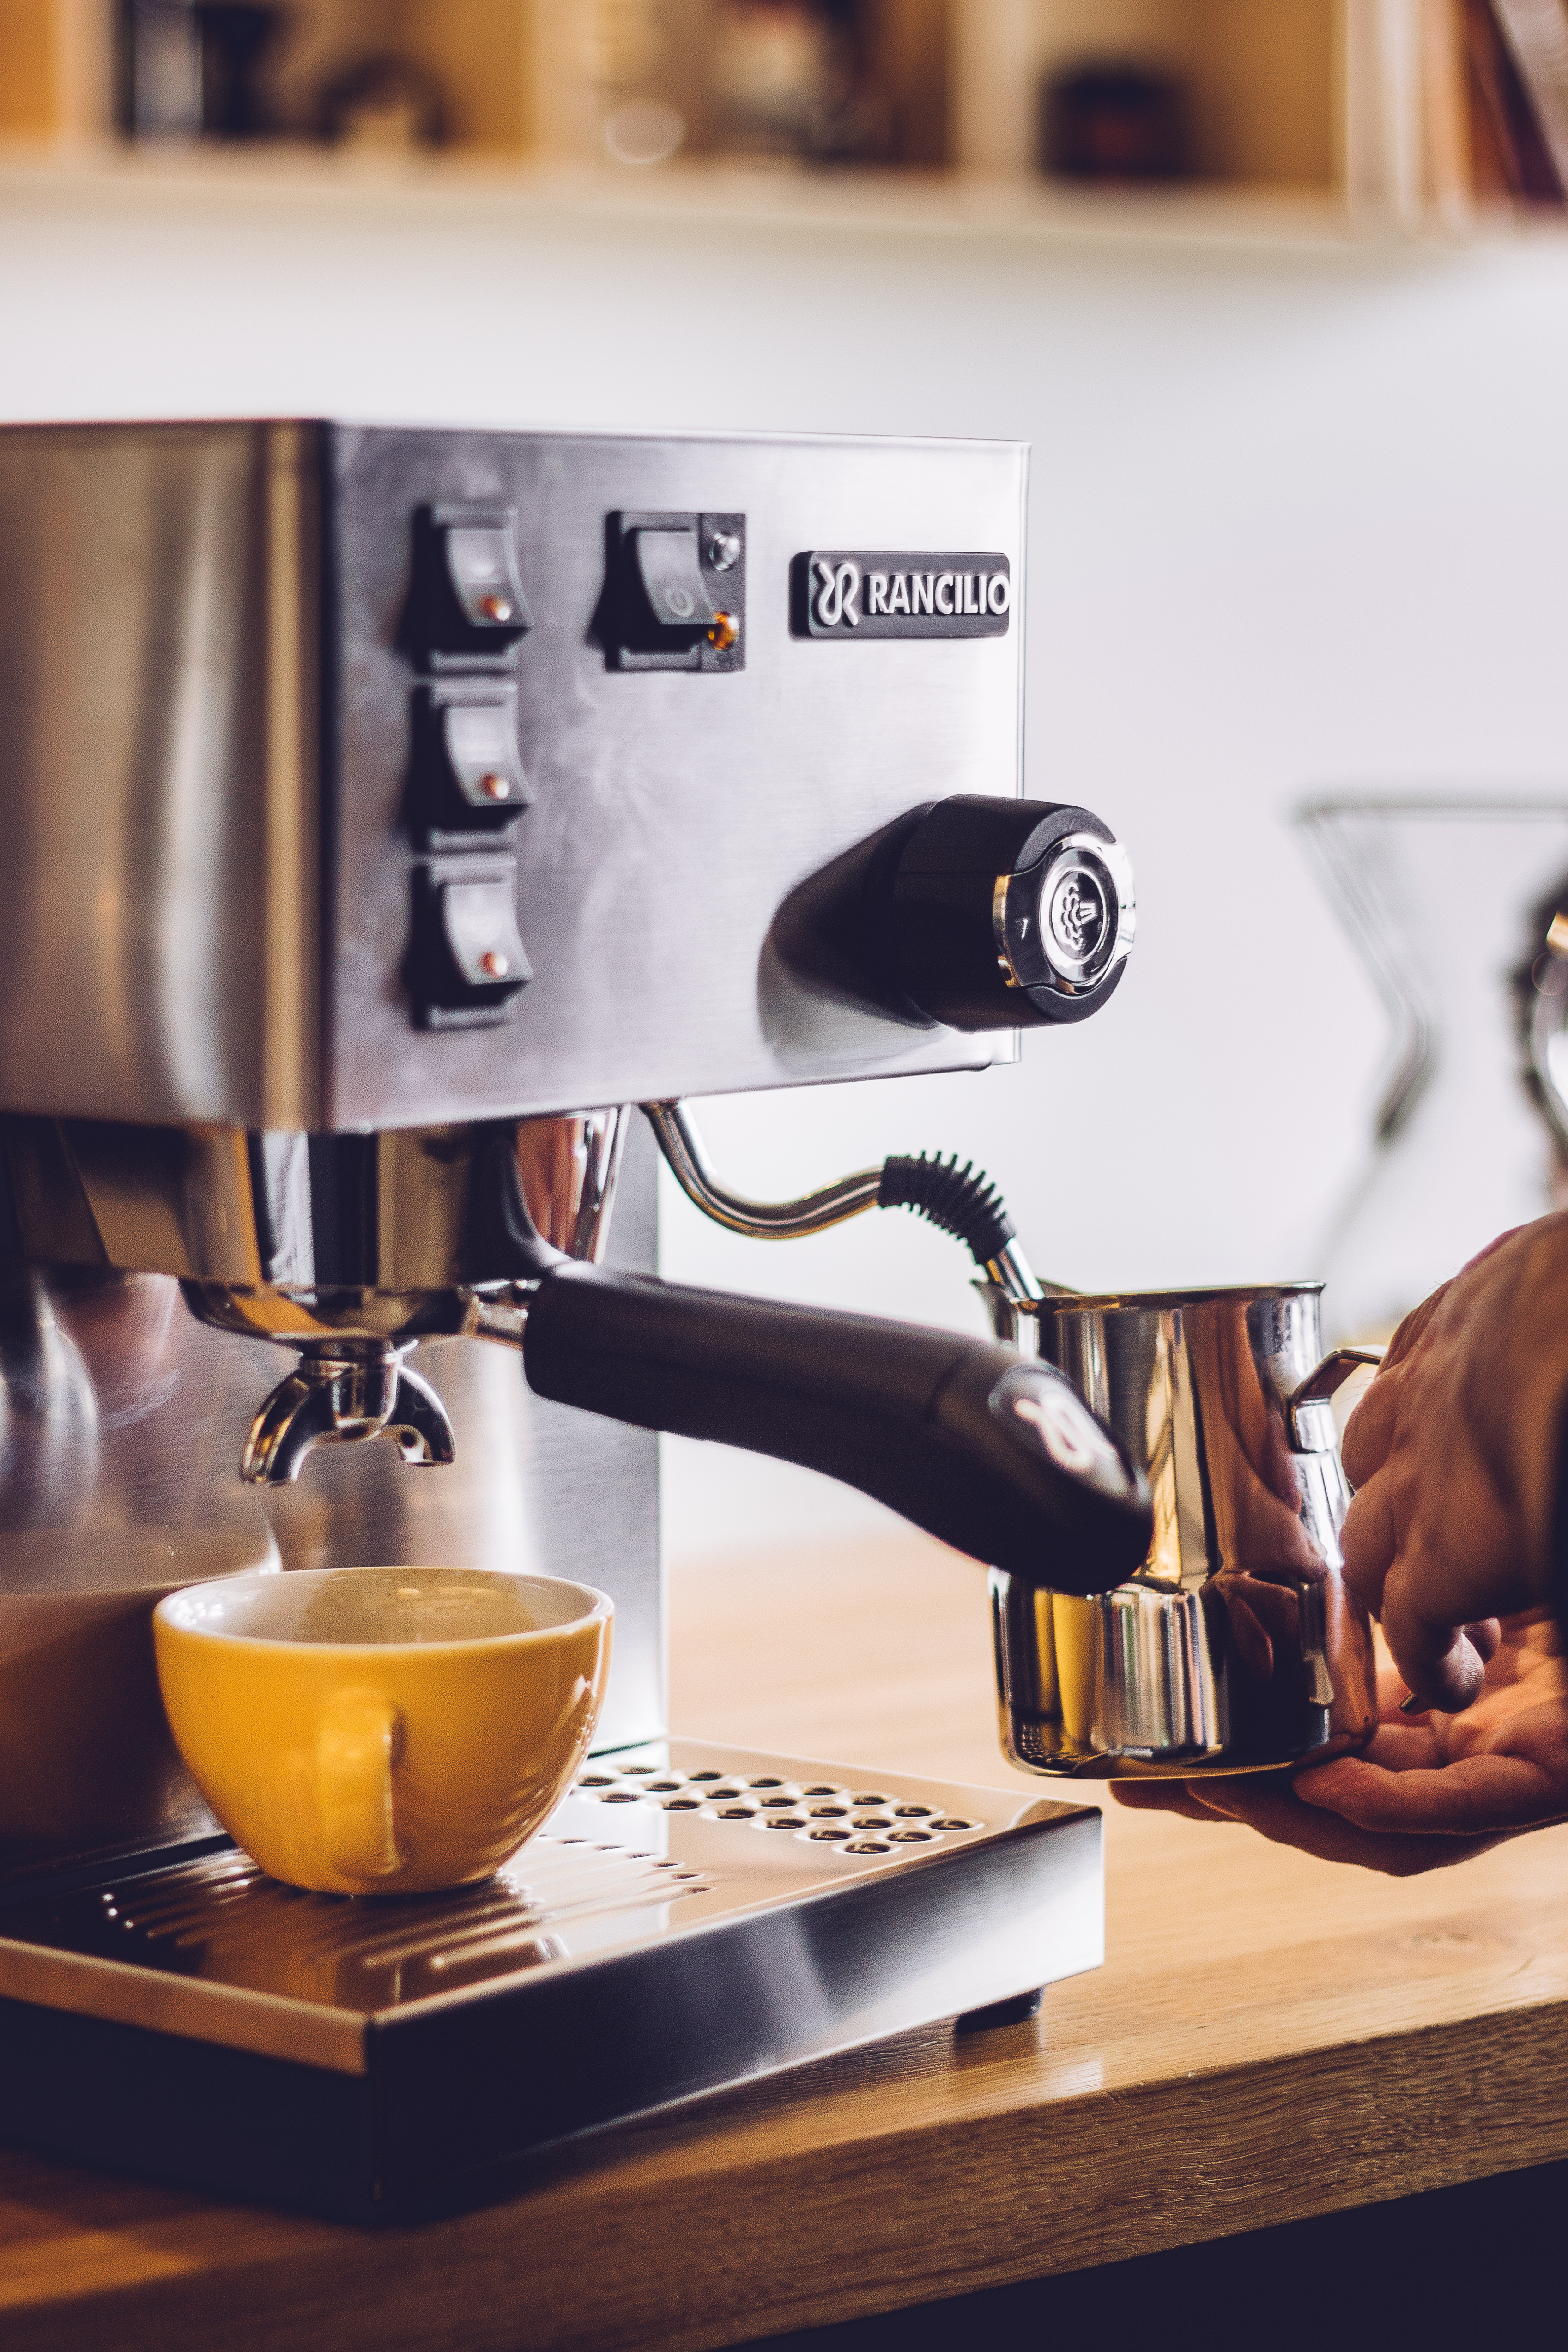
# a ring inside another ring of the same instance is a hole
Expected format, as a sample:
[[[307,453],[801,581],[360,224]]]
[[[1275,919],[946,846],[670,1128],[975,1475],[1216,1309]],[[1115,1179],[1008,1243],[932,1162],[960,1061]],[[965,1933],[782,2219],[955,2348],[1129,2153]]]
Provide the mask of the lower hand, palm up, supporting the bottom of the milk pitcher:
[[[1119,1780],[1112,1795],[1190,1820],[1241,1820],[1324,1860],[1410,1877],[1568,1818],[1568,1658],[1549,1609],[1502,1621],[1483,1691],[1462,1715],[1401,1712],[1378,1677],[1380,1724],[1359,1757],[1286,1773]]]

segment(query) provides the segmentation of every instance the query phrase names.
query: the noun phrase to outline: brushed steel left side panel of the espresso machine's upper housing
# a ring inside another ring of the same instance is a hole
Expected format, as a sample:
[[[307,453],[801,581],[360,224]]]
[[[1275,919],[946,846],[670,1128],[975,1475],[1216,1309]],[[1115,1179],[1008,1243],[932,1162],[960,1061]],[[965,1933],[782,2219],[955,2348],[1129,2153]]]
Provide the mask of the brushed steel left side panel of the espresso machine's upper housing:
[[[313,1112],[317,442],[0,433],[7,1108]]]

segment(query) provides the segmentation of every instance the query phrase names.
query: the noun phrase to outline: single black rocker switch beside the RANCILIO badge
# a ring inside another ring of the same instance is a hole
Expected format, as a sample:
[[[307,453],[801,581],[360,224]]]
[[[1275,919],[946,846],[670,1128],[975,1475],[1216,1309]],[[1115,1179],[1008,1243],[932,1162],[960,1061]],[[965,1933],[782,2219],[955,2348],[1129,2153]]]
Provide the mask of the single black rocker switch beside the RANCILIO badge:
[[[745,668],[745,515],[609,517],[611,670]]]

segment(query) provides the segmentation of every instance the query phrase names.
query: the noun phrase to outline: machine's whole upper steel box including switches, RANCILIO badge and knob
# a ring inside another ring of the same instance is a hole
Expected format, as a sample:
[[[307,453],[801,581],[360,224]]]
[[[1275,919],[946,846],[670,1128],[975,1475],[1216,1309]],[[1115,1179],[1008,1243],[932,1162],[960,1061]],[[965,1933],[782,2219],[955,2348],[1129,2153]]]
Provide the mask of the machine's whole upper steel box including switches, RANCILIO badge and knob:
[[[1025,489],[994,440],[5,428],[5,1098],[348,1134],[1011,1058],[1119,969],[1107,844],[971,842],[940,920],[877,849],[1020,788]]]

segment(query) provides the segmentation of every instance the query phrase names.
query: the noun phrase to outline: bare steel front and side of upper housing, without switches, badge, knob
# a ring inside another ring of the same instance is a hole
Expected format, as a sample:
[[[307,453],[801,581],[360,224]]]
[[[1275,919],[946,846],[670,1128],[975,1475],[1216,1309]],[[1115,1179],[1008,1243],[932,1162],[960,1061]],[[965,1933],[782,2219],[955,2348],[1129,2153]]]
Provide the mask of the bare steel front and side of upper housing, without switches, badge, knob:
[[[1011,445],[7,428],[0,1103],[409,1127],[1009,1054],[802,981],[771,924],[903,809],[1016,793],[1020,750],[1020,612],[983,642],[795,640],[790,557],[992,546],[1020,576],[1023,482]],[[536,623],[512,835],[536,978],[505,1028],[444,1035],[404,985],[397,635],[428,501],[517,508]],[[748,515],[741,673],[607,670],[604,517],[632,506]]]

